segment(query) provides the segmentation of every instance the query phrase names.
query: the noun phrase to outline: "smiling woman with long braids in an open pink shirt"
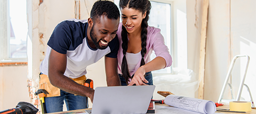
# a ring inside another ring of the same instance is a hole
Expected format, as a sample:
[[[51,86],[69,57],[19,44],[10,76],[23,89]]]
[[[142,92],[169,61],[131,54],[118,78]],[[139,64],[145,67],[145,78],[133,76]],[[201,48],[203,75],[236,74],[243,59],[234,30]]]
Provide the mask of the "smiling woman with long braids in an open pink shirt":
[[[148,0],[120,0],[122,23],[117,36],[118,75],[122,85],[153,85],[151,71],[172,65],[172,57],[160,29],[149,27]],[[152,51],[156,58],[150,61]],[[130,83],[130,84],[129,84]]]

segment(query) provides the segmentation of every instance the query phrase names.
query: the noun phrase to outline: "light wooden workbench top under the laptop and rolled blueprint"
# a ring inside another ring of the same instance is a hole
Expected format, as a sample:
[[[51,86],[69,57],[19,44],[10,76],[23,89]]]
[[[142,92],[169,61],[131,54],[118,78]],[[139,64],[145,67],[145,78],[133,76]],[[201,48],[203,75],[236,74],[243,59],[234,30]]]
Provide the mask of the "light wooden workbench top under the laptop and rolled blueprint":
[[[156,103],[155,105],[157,106],[167,106],[166,104],[158,104]],[[170,106],[168,106],[170,107]],[[228,104],[224,104],[223,106],[219,106],[217,107],[218,109],[229,109],[229,105]],[[63,112],[54,112],[54,113],[47,113],[47,114],[71,114],[71,113],[83,113],[85,112],[85,110],[90,110],[91,108],[89,109],[79,109],[79,110],[70,110],[70,111],[63,111]],[[158,111],[159,112],[159,111]],[[160,112],[161,113],[161,112]],[[240,114],[240,113],[237,113],[237,112],[222,112],[222,111],[216,111],[215,113],[229,113],[229,114]],[[256,113],[256,109],[252,109],[252,111],[250,112],[246,112],[247,114],[255,114]],[[157,114],[157,109],[156,109],[156,114]]]

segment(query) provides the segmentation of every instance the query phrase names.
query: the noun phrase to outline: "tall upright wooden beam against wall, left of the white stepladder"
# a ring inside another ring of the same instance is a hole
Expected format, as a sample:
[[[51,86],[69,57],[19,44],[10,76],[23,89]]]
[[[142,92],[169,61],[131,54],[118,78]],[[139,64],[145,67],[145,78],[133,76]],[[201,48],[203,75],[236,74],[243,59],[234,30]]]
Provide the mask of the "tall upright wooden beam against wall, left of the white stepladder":
[[[198,80],[198,99],[204,99],[204,71],[205,71],[205,48],[206,48],[206,28],[207,28],[207,13],[209,0],[203,1],[203,15],[201,28],[201,44],[200,44],[200,59],[199,59],[199,76]]]

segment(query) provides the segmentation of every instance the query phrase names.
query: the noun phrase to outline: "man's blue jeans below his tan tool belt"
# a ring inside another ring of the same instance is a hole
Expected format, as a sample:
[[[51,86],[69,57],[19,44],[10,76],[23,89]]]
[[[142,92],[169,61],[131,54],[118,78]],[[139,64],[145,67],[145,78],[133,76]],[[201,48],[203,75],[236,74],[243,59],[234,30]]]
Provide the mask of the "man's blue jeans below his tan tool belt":
[[[60,96],[44,98],[47,113],[63,111],[64,101],[67,110],[77,110],[88,108],[88,98],[80,95],[74,95],[60,90]]]

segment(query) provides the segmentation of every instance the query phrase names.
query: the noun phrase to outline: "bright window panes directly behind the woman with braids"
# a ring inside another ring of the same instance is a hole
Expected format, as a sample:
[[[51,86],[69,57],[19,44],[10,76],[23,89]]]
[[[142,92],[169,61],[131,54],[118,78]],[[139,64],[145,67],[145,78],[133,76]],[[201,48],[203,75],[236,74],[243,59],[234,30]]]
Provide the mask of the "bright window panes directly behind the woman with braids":
[[[119,8],[119,0],[114,1],[115,4]],[[149,14],[149,21],[148,25],[161,29],[161,34],[165,39],[165,45],[168,47],[170,54],[172,54],[172,29],[171,29],[171,4],[170,3],[162,3],[162,2],[154,2],[150,1],[151,3],[151,10]],[[155,52],[151,54],[151,60],[154,59]],[[160,69],[157,71],[153,71],[152,73],[172,73],[172,67],[167,67],[164,69]]]

